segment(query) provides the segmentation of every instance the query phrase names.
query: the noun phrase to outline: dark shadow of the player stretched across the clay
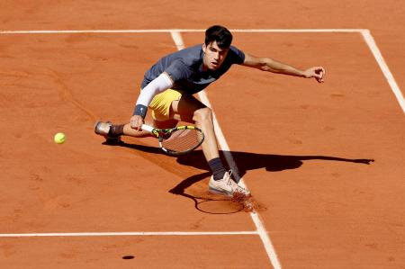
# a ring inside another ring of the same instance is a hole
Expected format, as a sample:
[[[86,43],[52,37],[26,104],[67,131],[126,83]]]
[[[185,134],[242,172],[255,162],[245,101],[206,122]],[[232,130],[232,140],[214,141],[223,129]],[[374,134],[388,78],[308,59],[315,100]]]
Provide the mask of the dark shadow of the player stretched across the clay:
[[[125,148],[133,148],[136,150],[148,152],[148,153],[156,153],[156,154],[164,154],[160,148],[155,147],[148,147],[143,145],[135,145],[135,144],[128,144],[121,142],[116,146],[121,146]],[[303,165],[304,161],[310,160],[324,160],[324,161],[336,161],[336,162],[348,162],[348,163],[356,163],[360,165],[370,165],[374,162],[374,159],[365,159],[365,158],[358,158],[358,159],[351,159],[351,158],[344,158],[344,157],[329,157],[329,156],[290,156],[290,155],[275,155],[275,154],[259,154],[259,153],[251,153],[251,152],[240,152],[240,151],[220,151],[220,157],[225,160],[229,157],[233,158],[236,166],[238,167],[238,171],[234,171],[234,178],[236,181],[247,173],[248,170],[260,169],[265,168],[266,171],[269,172],[279,172],[288,169],[297,169]],[[177,162],[184,166],[193,166],[200,170],[206,170],[202,174],[192,175],[186,179],[184,179],[181,183],[177,184],[173,189],[169,191],[169,193],[173,193],[176,195],[182,195],[186,198],[192,199],[195,203],[195,208],[198,208],[198,199],[205,199],[202,197],[197,197],[186,193],[186,189],[196,184],[203,179],[207,178],[211,175],[209,172],[209,166],[205,161],[205,158],[202,154],[202,150],[194,150],[193,152],[176,157]],[[236,170],[236,167],[232,167]],[[210,199],[208,199],[210,200]],[[201,211],[201,210],[200,210]]]

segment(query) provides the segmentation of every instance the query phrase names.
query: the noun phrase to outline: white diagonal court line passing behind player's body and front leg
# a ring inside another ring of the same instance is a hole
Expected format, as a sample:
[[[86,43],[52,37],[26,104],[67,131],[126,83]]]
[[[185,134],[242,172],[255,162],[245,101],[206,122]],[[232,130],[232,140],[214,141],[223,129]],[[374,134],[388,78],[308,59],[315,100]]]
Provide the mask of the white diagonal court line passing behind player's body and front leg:
[[[175,40],[175,46],[177,47],[178,50],[184,49],[184,41],[182,39],[182,36],[180,32],[178,31],[170,31],[170,34],[172,35],[173,40]],[[229,146],[227,141],[225,140],[225,137],[222,133],[222,130],[220,129],[220,124],[217,121],[217,117],[215,116],[215,113],[213,112],[211,103],[208,99],[207,94],[205,91],[201,91],[198,93],[198,96],[200,97],[200,100],[202,103],[207,105],[208,107],[211,108],[212,110],[212,118],[214,121],[214,129],[215,129],[215,135],[218,139],[218,142],[220,144],[220,148],[224,151],[225,158],[229,164],[229,167],[238,171],[237,165],[235,163],[235,160],[233,159],[232,155],[230,154]],[[236,172],[235,171],[235,172]],[[236,173],[238,174],[238,173]],[[239,175],[238,175],[239,177]],[[247,188],[246,184],[243,181],[243,178],[239,177],[239,184],[243,186],[244,188]],[[273,247],[272,241],[270,240],[270,237],[267,234],[267,231],[265,229],[265,226],[263,225],[263,222],[260,220],[260,216],[258,212],[251,212],[250,217],[252,218],[253,222],[255,223],[256,229],[257,229],[257,234],[262,240],[263,246],[266,249],[266,253],[268,258],[270,259],[271,264],[275,269],[280,269],[282,268],[277,255],[275,254],[275,247]]]

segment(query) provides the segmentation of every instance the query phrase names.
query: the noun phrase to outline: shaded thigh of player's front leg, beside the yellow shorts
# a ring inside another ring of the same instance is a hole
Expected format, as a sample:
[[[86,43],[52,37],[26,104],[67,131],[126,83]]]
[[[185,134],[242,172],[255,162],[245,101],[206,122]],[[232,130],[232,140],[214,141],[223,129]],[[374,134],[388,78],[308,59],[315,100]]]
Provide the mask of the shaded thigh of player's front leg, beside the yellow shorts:
[[[180,100],[172,102],[170,112],[173,114],[170,115],[170,118],[176,121],[193,122],[194,112],[205,107],[206,105],[193,95],[183,94]]]

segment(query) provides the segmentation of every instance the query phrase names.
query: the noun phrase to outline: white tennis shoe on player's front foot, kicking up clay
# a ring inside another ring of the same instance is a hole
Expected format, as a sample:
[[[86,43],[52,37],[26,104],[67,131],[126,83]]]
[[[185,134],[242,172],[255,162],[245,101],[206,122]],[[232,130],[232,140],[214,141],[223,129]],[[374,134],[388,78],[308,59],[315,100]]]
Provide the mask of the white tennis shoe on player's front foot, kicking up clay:
[[[234,193],[241,193],[249,196],[250,192],[234,182],[230,175],[232,175],[232,170],[225,172],[225,175],[223,175],[222,179],[220,180],[214,180],[213,175],[211,175],[208,190],[211,193],[221,194],[228,197],[232,197]]]

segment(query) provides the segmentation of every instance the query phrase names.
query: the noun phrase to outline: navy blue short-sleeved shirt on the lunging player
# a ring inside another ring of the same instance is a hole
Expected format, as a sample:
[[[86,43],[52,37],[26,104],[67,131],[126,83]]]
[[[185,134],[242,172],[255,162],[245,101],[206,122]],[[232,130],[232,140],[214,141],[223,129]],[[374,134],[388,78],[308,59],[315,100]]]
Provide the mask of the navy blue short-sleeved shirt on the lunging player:
[[[157,76],[166,72],[174,81],[173,89],[195,94],[220,78],[233,64],[242,64],[245,54],[236,47],[230,46],[227,57],[217,70],[202,71],[202,44],[182,49],[160,58],[145,73],[140,88],[144,88]]]

